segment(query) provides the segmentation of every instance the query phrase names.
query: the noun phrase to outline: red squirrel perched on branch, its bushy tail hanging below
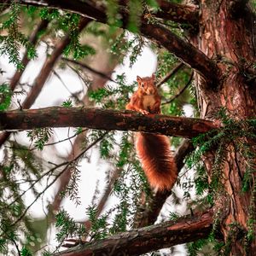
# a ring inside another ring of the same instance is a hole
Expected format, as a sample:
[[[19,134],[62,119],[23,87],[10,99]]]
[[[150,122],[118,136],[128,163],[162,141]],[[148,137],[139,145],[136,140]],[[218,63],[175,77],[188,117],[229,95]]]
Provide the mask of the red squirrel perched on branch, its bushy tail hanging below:
[[[160,113],[160,95],[151,77],[137,76],[137,91],[131,96],[126,109],[143,114]],[[136,152],[150,185],[157,190],[170,190],[177,180],[177,166],[168,137],[160,134],[137,132]]]

